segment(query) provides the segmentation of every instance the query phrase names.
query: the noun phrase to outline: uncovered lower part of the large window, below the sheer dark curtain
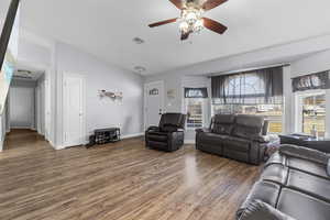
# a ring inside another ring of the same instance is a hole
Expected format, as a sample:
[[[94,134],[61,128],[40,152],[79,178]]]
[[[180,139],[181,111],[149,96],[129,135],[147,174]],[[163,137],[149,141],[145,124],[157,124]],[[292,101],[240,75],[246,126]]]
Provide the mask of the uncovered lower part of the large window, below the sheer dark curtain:
[[[264,116],[270,121],[270,133],[283,132],[282,105],[213,105],[213,114],[217,113]]]

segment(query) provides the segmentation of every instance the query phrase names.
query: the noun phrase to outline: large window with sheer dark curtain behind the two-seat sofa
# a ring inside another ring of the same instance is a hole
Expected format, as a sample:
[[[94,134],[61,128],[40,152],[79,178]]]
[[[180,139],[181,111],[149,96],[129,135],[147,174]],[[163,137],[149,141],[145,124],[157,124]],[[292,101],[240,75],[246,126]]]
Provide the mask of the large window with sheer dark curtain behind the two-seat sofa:
[[[212,114],[264,116],[270,133],[283,132],[282,68],[212,78]]]

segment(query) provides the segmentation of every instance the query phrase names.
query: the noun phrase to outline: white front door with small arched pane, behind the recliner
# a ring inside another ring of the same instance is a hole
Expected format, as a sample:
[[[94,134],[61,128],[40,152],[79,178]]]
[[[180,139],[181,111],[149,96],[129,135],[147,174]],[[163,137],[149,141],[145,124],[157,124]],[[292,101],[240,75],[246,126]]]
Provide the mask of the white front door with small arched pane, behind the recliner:
[[[164,82],[155,81],[146,84],[144,86],[144,97],[145,97],[145,107],[144,107],[144,124],[145,129],[151,125],[158,125],[164,105]]]

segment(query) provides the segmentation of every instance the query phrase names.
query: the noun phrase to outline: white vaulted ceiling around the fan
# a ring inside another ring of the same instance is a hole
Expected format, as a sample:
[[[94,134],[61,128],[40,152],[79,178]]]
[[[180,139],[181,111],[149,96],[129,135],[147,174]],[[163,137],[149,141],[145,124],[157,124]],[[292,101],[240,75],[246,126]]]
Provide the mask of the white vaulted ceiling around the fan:
[[[145,75],[330,33],[329,0],[229,0],[205,15],[226,24],[179,41],[178,24],[148,23],[179,15],[168,0],[25,0],[21,23]],[[141,37],[144,44],[132,42]]]

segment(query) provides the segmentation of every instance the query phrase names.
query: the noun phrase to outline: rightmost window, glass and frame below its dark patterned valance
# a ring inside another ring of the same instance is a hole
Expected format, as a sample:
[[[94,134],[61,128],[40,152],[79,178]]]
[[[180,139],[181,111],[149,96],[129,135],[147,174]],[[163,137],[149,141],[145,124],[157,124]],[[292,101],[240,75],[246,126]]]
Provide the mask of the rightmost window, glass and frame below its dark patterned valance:
[[[304,92],[298,95],[298,131],[324,138],[326,92]]]

